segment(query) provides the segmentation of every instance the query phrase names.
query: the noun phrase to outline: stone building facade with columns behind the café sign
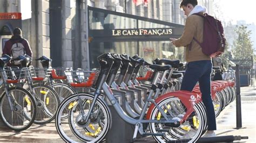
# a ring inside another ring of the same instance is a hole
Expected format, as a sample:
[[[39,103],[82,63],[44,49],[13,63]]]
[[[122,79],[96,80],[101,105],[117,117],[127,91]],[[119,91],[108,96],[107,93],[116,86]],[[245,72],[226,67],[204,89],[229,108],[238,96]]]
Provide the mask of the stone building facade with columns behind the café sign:
[[[199,0],[198,2],[206,6],[211,14],[211,1]],[[53,60],[54,67],[92,68],[94,64],[90,62],[92,46],[98,47],[96,51],[117,53],[127,52],[127,48],[130,48],[130,54],[139,53],[148,60],[157,57],[182,59],[183,56],[180,53],[183,53],[184,49],[173,47],[166,39],[164,41],[99,42],[93,45],[95,39],[90,37],[89,32],[90,28],[100,30],[105,26],[111,27],[114,23],[116,23],[114,28],[119,26],[119,28],[158,28],[158,30],[173,27],[167,22],[184,25],[185,17],[179,8],[179,3],[180,0],[149,0],[147,5],[136,5],[132,0],[2,0],[0,12],[22,12],[22,17],[28,17],[22,20],[22,30],[23,37],[30,42],[33,59],[45,55]],[[111,15],[111,12],[105,17],[104,13],[92,10],[90,13],[87,5],[108,10],[105,13],[113,11],[126,13],[128,17],[130,15],[138,17],[129,19],[125,15],[123,18],[115,14]],[[24,10],[29,16],[23,15]],[[145,20],[138,20],[139,17],[156,20],[145,22]],[[134,21],[136,19],[138,22]],[[103,25],[102,22],[108,24]],[[179,27],[179,25],[176,26]],[[104,51],[102,48],[109,48],[109,50]],[[33,61],[33,65],[40,66],[40,63]]]

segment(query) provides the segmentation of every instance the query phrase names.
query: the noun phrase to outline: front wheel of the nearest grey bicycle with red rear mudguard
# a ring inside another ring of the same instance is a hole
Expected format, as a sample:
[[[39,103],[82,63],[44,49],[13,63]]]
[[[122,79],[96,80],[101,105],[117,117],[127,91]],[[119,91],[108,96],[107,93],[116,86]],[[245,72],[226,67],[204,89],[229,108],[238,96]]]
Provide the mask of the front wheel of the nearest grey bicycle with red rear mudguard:
[[[60,104],[57,111],[55,125],[60,137],[66,142],[99,142],[104,139],[111,126],[110,110],[105,102],[98,98],[91,118],[86,123],[83,117],[86,117],[91,106],[93,95],[77,94],[66,98]],[[62,118],[69,109],[69,118]]]

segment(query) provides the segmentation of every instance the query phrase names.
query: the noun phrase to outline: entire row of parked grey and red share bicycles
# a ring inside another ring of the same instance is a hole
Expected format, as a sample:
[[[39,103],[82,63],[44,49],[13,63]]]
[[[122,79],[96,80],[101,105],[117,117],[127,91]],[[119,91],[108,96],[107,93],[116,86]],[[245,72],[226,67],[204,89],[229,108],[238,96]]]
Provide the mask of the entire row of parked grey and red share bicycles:
[[[19,68],[5,67],[15,60]],[[156,59],[150,64],[138,55],[105,53],[98,56],[100,69],[95,70],[51,68],[45,56],[36,60],[43,69],[28,66],[31,58],[26,55],[0,58],[1,119],[11,130],[55,118],[64,141],[104,141],[112,122],[109,106],[135,126],[133,139],[139,132],[158,142],[195,142],[207,130],[199,86],[192,92],[179,90],[184,74],[177,70],[184,67],[179,60]],[[212,81],[216,116],[235,99],[234,84]]]

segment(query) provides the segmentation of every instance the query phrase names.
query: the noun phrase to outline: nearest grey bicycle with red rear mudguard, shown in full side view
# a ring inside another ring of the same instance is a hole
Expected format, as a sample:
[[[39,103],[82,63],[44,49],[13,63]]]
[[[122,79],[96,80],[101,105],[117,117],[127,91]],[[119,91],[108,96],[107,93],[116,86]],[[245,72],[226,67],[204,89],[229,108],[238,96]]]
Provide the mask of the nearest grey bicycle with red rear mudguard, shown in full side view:
[[[194,142],[200,138],[206,126],[206,113],[203,110],[203,106],[197,104],[200,102],[198,95],[192,92],[171,92],[160,96],[154,101],[151,99],[154,89],[156,89],[156,82],[154,82],[139,119],[127,116],[105,82],[113,60],[112,56],[107,53],[98,56],[100,73],[95,84],[96,91],[94,94],[74,94],[60,104],[55,125],[60,137],[64,141],[98,142],[104,139],[111,126],[111,115],[103,99],[104,97],[100,96],[102,89],[104,96],[112,103],[118,115],[127,123],[135,125],[133,139],[136,139],[138,132],[142,135],[153,135],[154,139],[159,142],[167,140],[177,141],[177,139]],[[170,69],[171,66],[151,65],[151,68],[165,71]],[[149,110],[147,110],[150,102],[152,104]],[[180,106],[174,106],[176,105],[172,104],[174,102],[179,103]],[[66,108],[70,109],[69,119],[63,120],[61,118],[63,116],[62,112]],[[146,110],[147,117],[144,119]],[[150,132],[144,131],[143,124],[149,124]],[[181,135],[178,136],[177,132],[181,132]]]

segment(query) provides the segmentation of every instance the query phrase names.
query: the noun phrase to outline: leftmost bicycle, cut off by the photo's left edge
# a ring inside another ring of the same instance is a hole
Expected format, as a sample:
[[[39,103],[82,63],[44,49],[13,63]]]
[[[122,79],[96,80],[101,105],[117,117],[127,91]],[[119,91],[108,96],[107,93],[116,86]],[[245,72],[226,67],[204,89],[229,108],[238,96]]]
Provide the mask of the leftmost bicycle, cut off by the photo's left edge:
[[[21,87],[9,87],[9,84],[18,83],[16,78],[8,78],[8,73],[14,74],[10,69],[4,69],[11,60],[9,55],[0,58],[0,73],[4,92],[0,98],[1,119],[8,128],[20,132],[29,128],[36,118],[36,102],[27,90]]]

